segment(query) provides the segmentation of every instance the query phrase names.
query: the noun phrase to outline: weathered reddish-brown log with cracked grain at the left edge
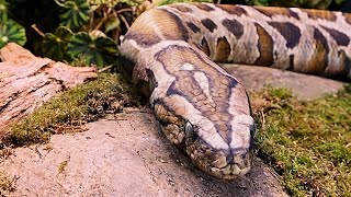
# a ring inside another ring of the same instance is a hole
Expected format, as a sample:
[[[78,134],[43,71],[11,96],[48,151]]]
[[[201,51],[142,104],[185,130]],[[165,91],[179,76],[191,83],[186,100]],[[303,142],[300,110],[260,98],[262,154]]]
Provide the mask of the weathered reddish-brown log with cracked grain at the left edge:
[[[93,67],[71,67],[10,43],[0,50],[0,136],[63,90],[98,77]]]

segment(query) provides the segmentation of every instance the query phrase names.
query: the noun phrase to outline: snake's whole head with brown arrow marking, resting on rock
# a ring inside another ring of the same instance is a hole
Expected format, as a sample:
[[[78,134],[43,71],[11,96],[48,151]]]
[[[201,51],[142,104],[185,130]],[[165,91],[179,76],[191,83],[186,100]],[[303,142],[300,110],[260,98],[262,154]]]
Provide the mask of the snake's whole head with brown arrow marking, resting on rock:
[[[148,68],[150,105],[167,138],[216,177],[246,174],[254,124],[241,83],[185,46],[161,49]]]

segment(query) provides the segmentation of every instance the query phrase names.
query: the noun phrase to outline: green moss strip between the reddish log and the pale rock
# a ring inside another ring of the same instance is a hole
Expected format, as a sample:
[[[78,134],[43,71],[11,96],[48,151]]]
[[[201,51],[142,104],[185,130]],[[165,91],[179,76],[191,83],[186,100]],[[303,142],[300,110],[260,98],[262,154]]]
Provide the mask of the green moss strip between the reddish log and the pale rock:
[[[118,74],[101,74],[97,80],[65,91],[37,112],[14,124],[7,141],[12,144],[45,142],[53,134],[80,131],[81,125],[118,112],[125,105],[138,105],[133,86]]]

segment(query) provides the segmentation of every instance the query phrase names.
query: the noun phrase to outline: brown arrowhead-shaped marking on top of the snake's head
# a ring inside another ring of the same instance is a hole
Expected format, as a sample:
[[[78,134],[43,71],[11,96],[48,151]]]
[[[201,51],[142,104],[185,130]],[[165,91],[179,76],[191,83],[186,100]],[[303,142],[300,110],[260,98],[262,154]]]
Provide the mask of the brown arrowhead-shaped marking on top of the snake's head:
[[[171,53],[171,56],[170,54]],[[182,56],[183,58],[178,58]],[[204,117],[211,119],[222,138],[229,143],[231,140],[230,120],[231,115],[226,113],[229,108],[228,100],[231,89],[237,85],[233,78],[223,76],[205,62],[192,49],[179,46],[169,46],[156,55],[156,59],[163,65],[165,70],[177,78],[167,91],[167,96],[181,95],[185,97]],[[190,63],[195,71],[180,70],[179,66]],[[199,83],[200,78],[207,79],[210,97],[205,94],[207,90]],[[182,116],[174,112],[177,116]]]

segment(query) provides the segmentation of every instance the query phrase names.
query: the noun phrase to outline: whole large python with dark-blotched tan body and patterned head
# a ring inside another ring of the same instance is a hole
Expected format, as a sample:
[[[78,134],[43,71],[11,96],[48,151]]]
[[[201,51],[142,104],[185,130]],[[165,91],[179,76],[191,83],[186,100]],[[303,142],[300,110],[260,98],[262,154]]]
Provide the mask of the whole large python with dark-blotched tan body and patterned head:
[[[254,123],[244,86],[214,61],[351,79],[350,38],[341,12],[180,3],[143,13],[120,50],[167,138],[230,179],[251,166]]]

